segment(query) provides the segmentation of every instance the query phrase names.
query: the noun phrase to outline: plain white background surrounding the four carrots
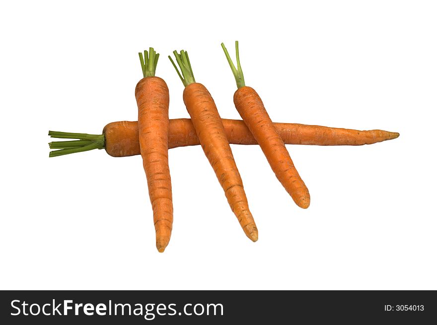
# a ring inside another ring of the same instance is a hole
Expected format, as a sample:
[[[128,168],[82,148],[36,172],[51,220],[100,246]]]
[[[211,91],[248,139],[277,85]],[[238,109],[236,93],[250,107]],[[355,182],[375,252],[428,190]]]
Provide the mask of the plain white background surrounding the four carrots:
[[[436,15],[434,1],[2,2],[1,289],[437,289]],[[236,39],[272,120],[401,135],[288,145],[307,210],[259,147],[232,145],[257,243],[200,146],[171,149],[173,234],[159,254],[141,157],[49,159],[47,132],[135,121],[149,46],[170,118],[188,117],[166,58],[183,48],[237,119],[220,48],[233,57]]]

